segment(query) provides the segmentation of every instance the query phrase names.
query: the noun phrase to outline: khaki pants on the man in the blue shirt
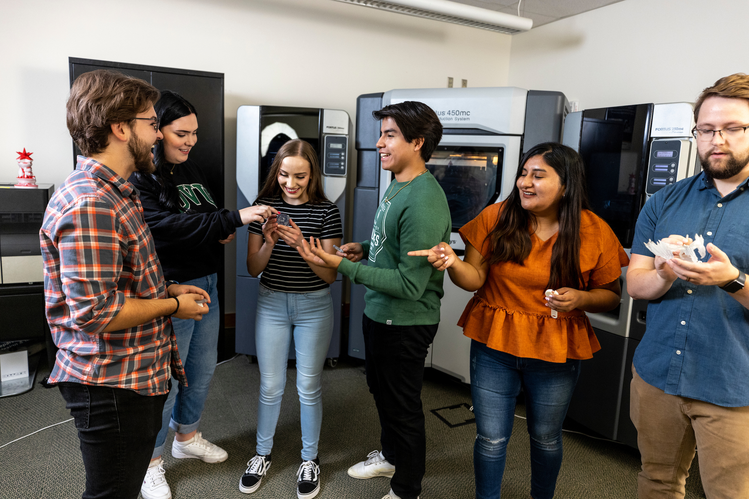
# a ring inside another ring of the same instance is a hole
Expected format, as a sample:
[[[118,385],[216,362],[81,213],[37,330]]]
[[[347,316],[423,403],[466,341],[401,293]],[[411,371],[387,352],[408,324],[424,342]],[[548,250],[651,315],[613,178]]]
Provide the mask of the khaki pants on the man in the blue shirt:
[[[749,407],[667,395],[637,376],[634,366],[632,374],[629,414],[643,460],[637,497],[684,498],[697,445],[707,498],[749,498]]]

